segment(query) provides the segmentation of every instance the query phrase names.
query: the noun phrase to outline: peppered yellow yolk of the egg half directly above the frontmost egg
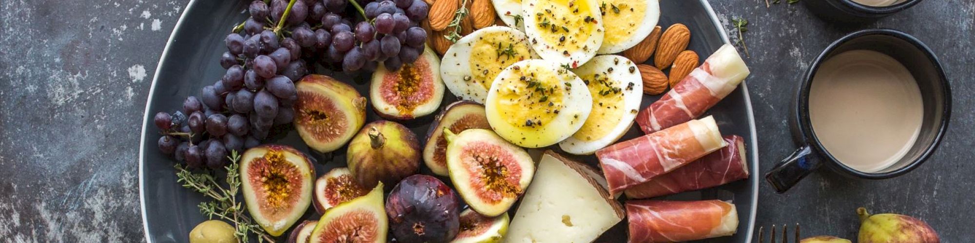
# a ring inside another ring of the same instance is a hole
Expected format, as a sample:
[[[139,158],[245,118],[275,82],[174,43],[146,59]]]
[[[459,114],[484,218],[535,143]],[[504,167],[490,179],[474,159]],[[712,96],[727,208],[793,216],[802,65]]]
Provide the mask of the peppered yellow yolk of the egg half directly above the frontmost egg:
[[[589,47],[586,41],[593,35],[596,18],[585,0],[552,0],[536,3],[535,28],[545,43],[555,45],[556,50],[565,56],[579,49],[599,49]]]

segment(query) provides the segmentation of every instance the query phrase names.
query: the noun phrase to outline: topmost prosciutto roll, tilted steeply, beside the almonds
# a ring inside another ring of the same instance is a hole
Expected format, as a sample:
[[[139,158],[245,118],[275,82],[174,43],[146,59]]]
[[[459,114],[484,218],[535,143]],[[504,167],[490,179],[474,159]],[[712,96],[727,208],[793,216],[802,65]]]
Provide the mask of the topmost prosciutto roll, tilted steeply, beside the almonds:
[[[640,111],[637,123],[649,134],[691,121],[718,104],[750,73],[738,51],[724,44],[677,87]]]

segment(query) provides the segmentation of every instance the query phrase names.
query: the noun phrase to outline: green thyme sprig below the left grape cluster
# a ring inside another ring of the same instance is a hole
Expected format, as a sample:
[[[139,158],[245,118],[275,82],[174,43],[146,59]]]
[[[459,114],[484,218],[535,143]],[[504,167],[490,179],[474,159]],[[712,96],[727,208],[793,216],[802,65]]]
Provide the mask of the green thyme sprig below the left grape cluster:
[[[214,200],[201,202],[197,205],[200,213],[210,219],[220,219],[234,224],[236,231],[234,235],[241,242],[248,242],[248,235],[257,235],[257,242],[274,242],[274,239],[264,231],[264,228],[254,223],[251,217],[245,214],[244,204],[237,199],[240,192],[241,179],[238,169],[241,156],[237,151],[230,153],[230,164],[224,167],[227,170],[225,186],[217,182],[214,175],[210,173],[194,173],[187,170],[181,164],[176,164],[176,180],[182,184],[183,188],[203,193]]]

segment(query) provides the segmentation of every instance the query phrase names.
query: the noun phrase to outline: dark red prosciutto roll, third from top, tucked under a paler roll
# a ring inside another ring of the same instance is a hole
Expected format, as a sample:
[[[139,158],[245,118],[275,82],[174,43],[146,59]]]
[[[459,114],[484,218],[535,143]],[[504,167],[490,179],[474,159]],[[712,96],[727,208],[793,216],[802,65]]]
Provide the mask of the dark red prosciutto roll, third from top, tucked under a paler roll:
[[[627,189],[630,198],[650,198],[683,191],[718,187],[748,178],[748,159],[745,158],[745,139],[724,136],[727,147],[708,154],[670,173]]]

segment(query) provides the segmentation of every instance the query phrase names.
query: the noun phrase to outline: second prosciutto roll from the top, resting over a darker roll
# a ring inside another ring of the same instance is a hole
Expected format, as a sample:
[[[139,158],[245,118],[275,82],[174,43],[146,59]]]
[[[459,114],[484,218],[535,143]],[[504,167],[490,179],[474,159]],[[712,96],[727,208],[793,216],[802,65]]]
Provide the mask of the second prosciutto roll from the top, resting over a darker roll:
[[[596,151],[611,194],[673,171],[694,159],[723,148],[712,117],[620,142]]]

